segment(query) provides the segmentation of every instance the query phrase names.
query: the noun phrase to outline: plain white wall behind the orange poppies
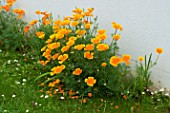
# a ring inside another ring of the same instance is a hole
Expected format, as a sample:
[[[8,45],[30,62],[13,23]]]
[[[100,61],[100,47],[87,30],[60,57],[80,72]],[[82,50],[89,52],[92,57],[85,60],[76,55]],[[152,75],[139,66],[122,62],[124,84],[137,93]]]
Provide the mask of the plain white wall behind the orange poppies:
[[[15,4],[25,10],[24,18],[28,21],[38,19],[34,13],[38,9],[52,12],[56,18],[71,15],[75,7],[93,7],[99,17],[99,27],[106,29],[108,36],[112,33],[112,21],[122,24],[121,54],[131,54],[136,60],[151,52],[156,57],[155,48],[164,48],[164,54],[152,70],[152,80],[156,86],[160,81],[161,86],[167,88],[170,88],[169,5],[170,0],[17,0]]]

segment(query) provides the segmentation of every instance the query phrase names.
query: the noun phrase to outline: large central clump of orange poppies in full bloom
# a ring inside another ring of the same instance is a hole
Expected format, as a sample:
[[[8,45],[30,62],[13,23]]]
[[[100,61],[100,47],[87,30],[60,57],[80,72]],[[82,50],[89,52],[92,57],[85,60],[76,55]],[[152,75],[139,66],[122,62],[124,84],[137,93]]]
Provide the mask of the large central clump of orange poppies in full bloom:
[[[97,29],[93,11],[94,8],[87,11],[76,8],[73,15],[52,20],[49,13],[38,10],[36,14],[43,15],[41,20],[33,20],[28,25],[39,22],[43,26],[36,36],[44,43],[39,63],[45,71],[37,79],[47,84],[47,94],[69,95],[70,98],[108,96],[131,87],[127,85],[131,84],[127,77],[131,75],[131,56],[117,55],[122,25],[112,22],[112,42],[107,44],[106,30]],[[139,59],[142,62],[143,58]]]

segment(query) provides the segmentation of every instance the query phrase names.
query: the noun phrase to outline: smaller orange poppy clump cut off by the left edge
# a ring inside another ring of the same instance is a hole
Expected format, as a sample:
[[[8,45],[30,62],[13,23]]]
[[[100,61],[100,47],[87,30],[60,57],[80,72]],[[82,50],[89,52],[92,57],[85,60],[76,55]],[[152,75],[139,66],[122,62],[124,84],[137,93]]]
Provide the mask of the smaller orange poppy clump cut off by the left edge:
[[[3,50],[26,52],[30,47],[30,34],[24,33],[26,22],[22,20],[25,11],[13,8],[16,0],[0,2],[0,46]],[[28,36],[29,35],[29,36]]]

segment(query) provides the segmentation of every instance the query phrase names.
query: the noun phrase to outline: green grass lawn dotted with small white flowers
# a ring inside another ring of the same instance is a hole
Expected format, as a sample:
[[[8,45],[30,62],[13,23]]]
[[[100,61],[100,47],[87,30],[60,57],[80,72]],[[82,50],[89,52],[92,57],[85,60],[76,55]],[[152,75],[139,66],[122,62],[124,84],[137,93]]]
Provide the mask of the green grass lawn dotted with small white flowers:
[[[31,54],[0,52],[0,113],[170,113],[169,101],[154,103],[151,96],[142,101],[119,97],[61,99],[39,92],[40,75],[36,57]]]

